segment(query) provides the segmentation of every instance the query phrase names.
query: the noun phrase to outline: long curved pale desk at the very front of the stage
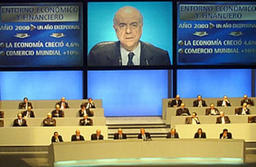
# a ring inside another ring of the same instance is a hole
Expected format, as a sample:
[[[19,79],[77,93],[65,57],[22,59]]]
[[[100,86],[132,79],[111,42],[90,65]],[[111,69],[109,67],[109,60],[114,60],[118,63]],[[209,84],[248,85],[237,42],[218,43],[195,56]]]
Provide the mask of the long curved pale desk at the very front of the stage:
[[[196,148],[196,149],[194,149]],[[88,150],[88,152],[86,151]],[[223,150],[229,150],[223,152]],[[53,143],[49,147],[52,166],[78,160],[116,158],[237,158],[244,162],[242,139],[153,139]]]

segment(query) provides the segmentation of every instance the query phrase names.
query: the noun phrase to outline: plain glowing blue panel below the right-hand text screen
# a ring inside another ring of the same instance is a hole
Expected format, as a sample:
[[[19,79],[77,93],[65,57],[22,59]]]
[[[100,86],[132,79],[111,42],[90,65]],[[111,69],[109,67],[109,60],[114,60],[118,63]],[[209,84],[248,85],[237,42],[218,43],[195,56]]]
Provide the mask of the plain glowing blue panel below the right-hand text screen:
[[[251,70],[177,70],[177,93],[182,98],[251,96]]]

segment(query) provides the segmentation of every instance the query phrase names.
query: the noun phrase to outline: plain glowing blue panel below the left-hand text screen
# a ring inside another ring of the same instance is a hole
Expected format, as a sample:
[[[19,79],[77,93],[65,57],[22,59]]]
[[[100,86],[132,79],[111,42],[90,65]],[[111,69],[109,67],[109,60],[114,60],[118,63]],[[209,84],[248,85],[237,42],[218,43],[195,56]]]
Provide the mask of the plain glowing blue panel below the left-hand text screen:
[[[0,72],[1,100],[83,98],[82,71]]]

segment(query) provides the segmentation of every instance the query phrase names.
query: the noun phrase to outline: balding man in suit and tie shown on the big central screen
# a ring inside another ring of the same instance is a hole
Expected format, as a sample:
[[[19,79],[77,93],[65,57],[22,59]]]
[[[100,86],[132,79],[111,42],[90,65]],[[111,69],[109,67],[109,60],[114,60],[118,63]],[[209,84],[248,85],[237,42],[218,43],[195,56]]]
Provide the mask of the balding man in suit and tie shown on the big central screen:
[[[89,66],[170,65],[167,51],[140,41],[143,17],[138,9],[125,6],[114,15],[119,41],[96,44],[88,55]]]

